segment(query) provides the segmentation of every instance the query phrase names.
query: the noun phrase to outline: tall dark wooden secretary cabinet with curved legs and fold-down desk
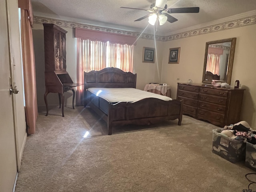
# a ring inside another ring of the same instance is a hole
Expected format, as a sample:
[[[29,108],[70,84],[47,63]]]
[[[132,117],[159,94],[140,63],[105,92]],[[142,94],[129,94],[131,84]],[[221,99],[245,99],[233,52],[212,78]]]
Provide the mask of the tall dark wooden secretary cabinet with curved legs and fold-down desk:
[[[55,24],[44,23],[44,60],[45,60],[45,94],[46,116],[48,115],[48,93],[59,94],[59,104],[64,117],[64,92],[72,90],[73,109],[75,91],[74,87],[80,83],[73,83],[66,71],[66,33],[67,31]]]

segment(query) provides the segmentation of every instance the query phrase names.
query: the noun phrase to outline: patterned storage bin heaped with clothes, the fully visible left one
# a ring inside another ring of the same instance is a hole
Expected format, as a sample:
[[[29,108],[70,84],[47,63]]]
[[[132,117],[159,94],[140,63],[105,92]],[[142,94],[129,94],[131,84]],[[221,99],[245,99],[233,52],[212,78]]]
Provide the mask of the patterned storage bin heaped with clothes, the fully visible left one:
[[[232,163],[244,161],[246,153],[244,140],[225,137],[220,134],[222,130],[224,128],[212,130],[212,152]]]

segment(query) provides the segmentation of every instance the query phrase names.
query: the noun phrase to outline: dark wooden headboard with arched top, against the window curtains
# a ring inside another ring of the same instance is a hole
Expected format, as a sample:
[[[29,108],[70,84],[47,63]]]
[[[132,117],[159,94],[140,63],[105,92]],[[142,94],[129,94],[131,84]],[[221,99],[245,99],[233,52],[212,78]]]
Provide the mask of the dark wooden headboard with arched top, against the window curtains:
[[[90,87],[136,88],[136,78],[137,74],[114,67],[84,72],[84,90]]]

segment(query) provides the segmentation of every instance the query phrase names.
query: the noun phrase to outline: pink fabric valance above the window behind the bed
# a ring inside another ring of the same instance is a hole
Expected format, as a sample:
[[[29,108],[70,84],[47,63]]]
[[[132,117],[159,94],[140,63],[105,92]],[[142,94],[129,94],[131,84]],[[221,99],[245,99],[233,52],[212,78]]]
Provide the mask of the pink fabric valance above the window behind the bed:
[[[101,42],[109,41],[111,43],[136,45],[135,36],[115,34],[110,32],[102,32],[102,31],[83,29],[83,28],[76,28],[75,37],[83,40],[89,39],[91,41],[101,41]]]

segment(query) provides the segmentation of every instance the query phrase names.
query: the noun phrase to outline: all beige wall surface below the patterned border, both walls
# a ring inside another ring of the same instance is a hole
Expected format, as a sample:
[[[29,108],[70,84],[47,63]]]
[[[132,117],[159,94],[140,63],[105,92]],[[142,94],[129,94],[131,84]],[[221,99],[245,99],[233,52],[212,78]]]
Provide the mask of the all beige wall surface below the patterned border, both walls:
[[[67,39],[67,71],[72,80],[76,81],[76,39],[70,28]],[[177,82],[202,82],[205,43],[208,41],[236,37],[231,86],[235,80],[242,84],[244,92],[241,120],[246,120],[252,127],[256,127],[256,89],[254,88],[254,72],[256,70],[256,25],[244,26],[220,32],[172,40],[168,42],[154,42],[153,40],[138,39],[134,47],[134,73],[137,73],[137,88],[143,90],[149,82],[167,83],[172,90],[172,98],[176,98]],[[44,106],[44,34],[42,24],[34,24],[34,48],[36,57],[36,80],[38,106]],[[142,62],[143,47],[154,48],[156,45],[155,63]],[[168,64],[169,49],[180,47],[180,63]],[[180,80],[177,80],[177,79]],[[65,93],[65,104],[72,103],[72,93]],[[48,95],[49,105],[58,104],[58,95]],[[236,123],[236,122],[234,122]]]

